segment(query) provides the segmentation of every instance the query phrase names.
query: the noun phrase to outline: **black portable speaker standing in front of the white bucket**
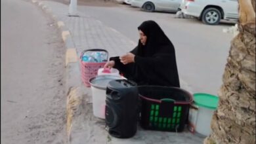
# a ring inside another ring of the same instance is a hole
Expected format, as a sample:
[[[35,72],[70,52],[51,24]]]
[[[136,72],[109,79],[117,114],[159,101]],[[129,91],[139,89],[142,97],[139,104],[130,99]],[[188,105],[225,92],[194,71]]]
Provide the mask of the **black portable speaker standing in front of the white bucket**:
[[[136,134],[138,99],[135,82],[122,79],[108,83],[105,122],[110,135],[129,138]]]

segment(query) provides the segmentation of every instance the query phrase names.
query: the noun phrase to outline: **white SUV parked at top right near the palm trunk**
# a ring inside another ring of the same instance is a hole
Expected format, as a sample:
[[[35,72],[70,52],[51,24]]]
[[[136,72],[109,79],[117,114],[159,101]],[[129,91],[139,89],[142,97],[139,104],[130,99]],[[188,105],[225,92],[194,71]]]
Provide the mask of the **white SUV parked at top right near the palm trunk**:
[[[182,0],[181,10],[209,25],[217,25],[222,19],[238,20],[238,0]]]

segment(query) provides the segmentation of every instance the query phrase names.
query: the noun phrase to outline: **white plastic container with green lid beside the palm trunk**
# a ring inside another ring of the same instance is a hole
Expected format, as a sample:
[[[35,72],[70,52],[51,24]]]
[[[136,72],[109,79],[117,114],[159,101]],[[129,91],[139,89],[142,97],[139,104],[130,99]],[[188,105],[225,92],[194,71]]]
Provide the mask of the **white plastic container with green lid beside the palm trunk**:
[[[203,136],[211,134],[211,118],[217,109],[219,98],[211,94],[194,94],[188,116],[190,132],[197,132]]]

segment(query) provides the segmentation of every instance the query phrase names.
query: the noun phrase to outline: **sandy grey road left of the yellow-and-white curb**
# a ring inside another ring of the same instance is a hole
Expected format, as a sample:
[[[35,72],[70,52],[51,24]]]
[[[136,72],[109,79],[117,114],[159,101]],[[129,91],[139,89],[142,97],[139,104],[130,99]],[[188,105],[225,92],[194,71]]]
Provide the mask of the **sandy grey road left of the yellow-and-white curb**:
[[[1,1],[1,143],[64,143],[65,48],[31,1]]]

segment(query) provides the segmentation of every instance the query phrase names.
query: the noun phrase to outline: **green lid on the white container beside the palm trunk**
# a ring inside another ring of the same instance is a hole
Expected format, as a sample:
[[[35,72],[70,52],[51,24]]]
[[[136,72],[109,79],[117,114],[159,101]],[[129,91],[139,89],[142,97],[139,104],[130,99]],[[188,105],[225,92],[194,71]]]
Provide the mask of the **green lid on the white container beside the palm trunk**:
[[[216,109],[219,97],[213,96],[211,94],[203,94],[203,93],[197,93],[194,94],[194,103],[198,106],[205,107],[208,109]]]

